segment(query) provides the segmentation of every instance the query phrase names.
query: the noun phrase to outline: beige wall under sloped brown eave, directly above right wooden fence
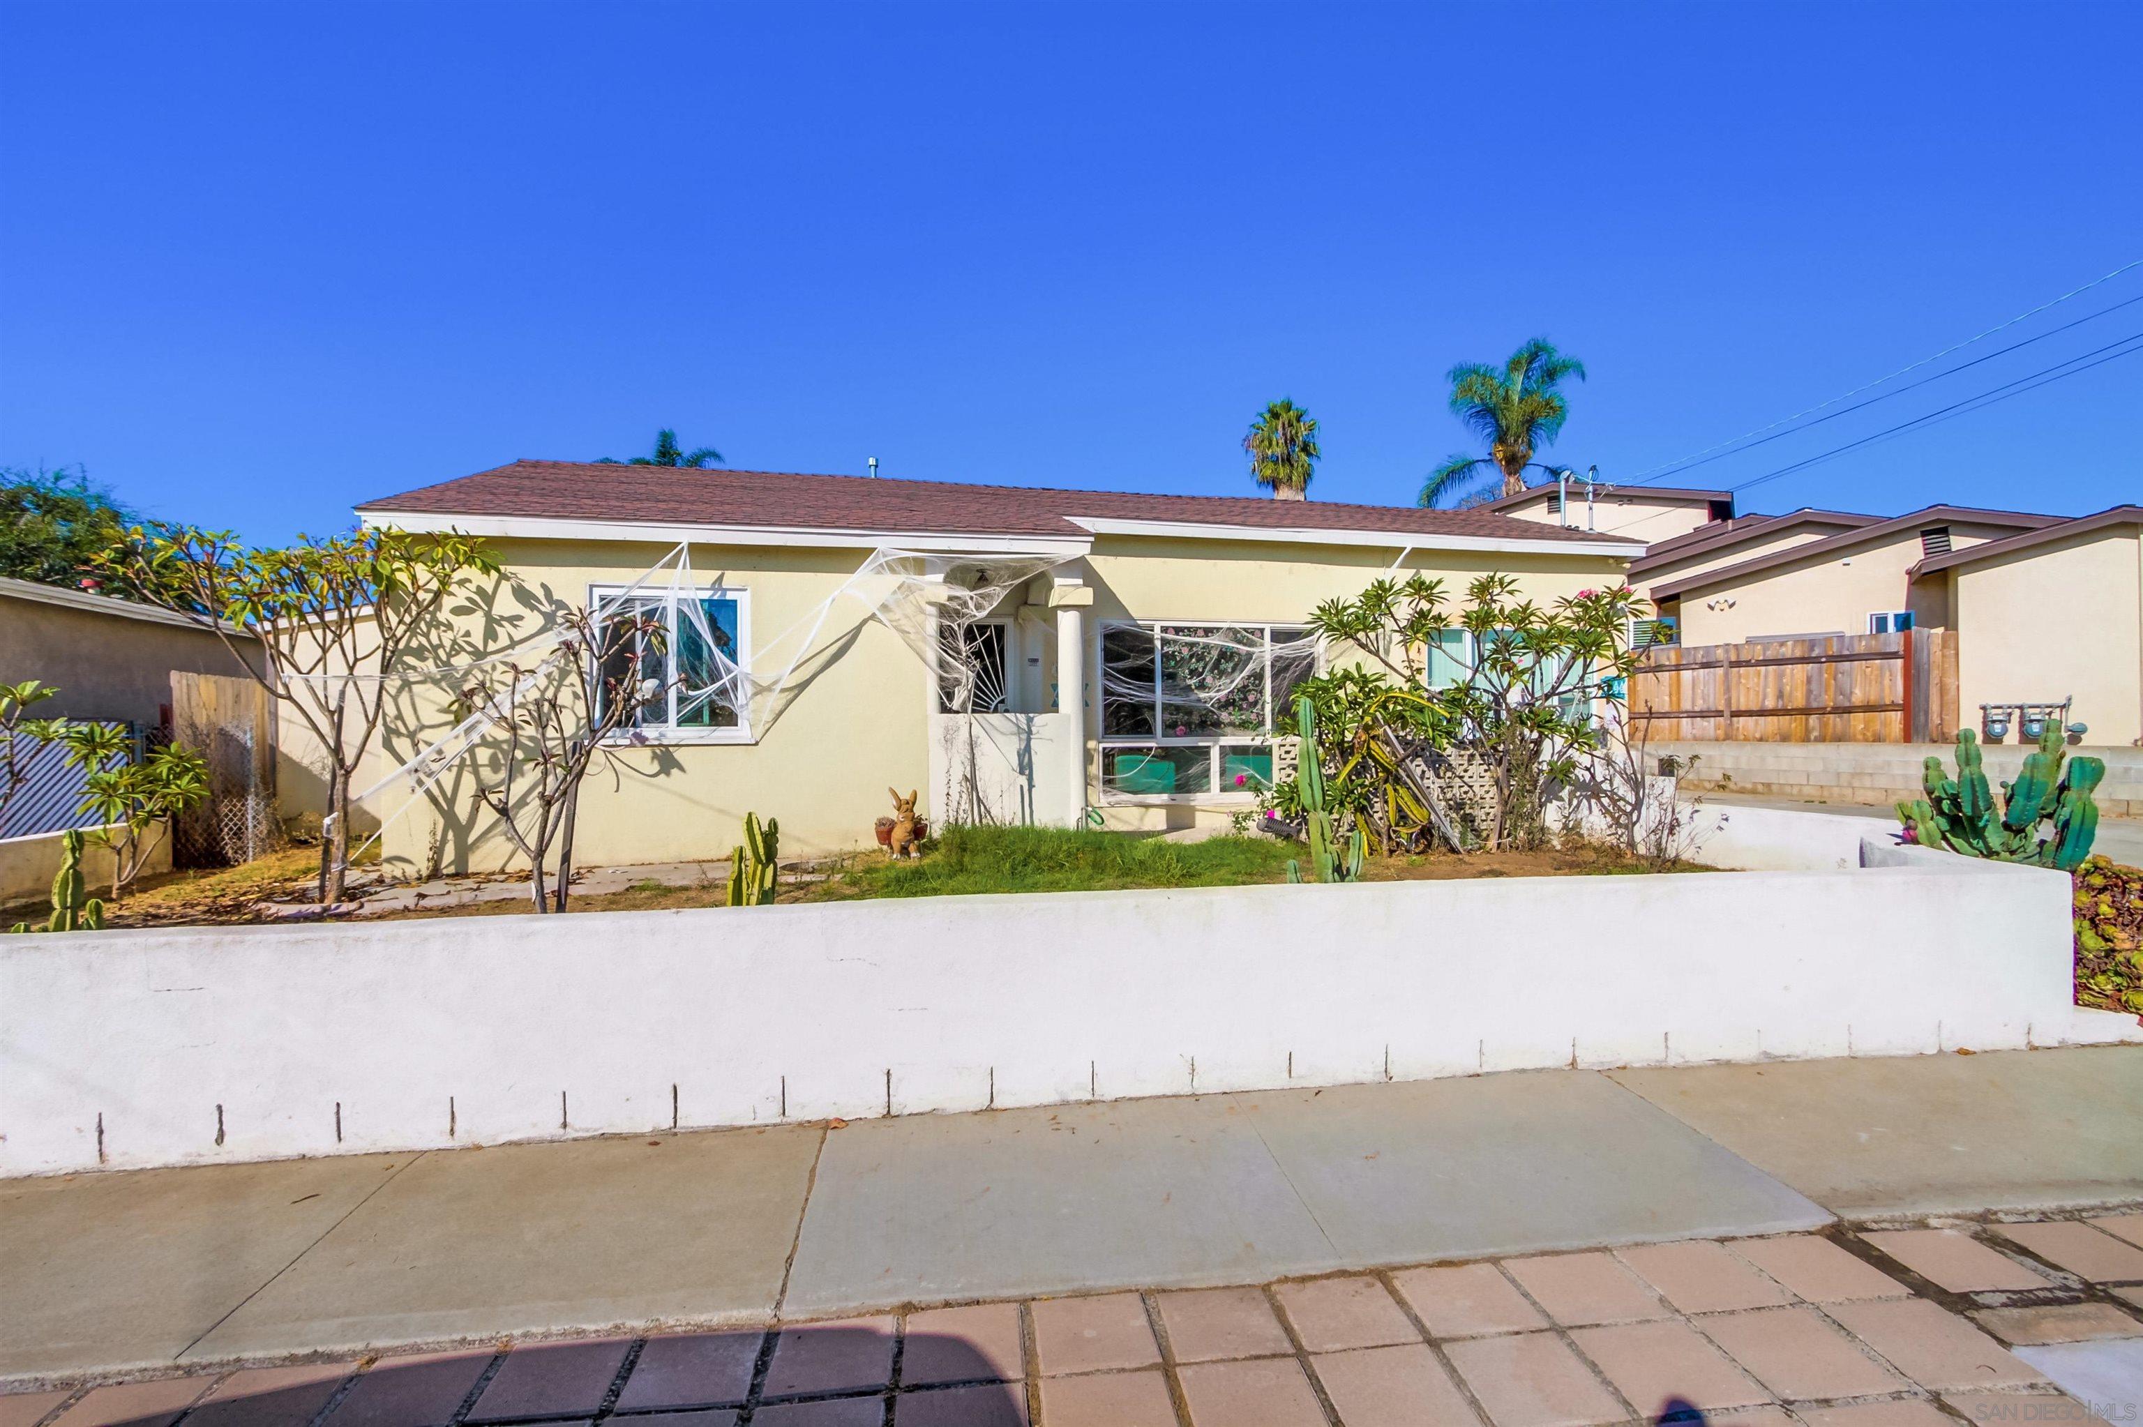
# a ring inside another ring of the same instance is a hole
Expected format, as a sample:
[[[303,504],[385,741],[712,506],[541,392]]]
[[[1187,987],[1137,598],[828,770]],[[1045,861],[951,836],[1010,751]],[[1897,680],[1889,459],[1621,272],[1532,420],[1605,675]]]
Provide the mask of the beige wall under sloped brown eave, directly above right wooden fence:
[[[1948,521],[1948,527],[1954,549],[2014,534],[1963,521]],[[1725,645],[1774,634],[1867,634],[1871,613],[1912,609],[1905,572],[1916,564],[1920,564],[1920,534],[1907,529],[1687,589],[1680,600],[1682,643]]]

